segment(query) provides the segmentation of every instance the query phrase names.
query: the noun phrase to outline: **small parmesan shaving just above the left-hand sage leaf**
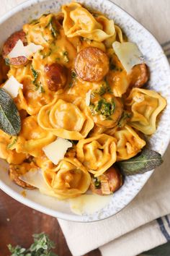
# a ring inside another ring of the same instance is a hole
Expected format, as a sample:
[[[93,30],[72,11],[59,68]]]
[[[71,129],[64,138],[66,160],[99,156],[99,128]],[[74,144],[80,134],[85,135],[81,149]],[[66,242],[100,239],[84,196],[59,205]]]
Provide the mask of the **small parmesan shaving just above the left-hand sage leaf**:
[[[9,78],[9,80],[6,81],[5,85],[3,86],[3,89],[6,90],[9,95],[12,96],[12,98],[16,98],[19,92],[19,88],[23,88],[23,85],[20,84],[13,75]]]

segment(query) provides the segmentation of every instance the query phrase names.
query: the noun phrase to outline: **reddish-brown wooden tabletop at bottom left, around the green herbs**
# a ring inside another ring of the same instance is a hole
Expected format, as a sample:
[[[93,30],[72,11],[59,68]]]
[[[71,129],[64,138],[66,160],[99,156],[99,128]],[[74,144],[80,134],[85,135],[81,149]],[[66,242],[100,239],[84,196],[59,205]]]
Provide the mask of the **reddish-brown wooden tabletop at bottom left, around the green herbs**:
[[[56,218],[28,208],[0,190],[0,255],[10,255],[6,244],[29,247],[32,234],[41,232],[55,242],[58,256],[71,256]],[[100,256],[100,252],[96,249],[86,256]]]

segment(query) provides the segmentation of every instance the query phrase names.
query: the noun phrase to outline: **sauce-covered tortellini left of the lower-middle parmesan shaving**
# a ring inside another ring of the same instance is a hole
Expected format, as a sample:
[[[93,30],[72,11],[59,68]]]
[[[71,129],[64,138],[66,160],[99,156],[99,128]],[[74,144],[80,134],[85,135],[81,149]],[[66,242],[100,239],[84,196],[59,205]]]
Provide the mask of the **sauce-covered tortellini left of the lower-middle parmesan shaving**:
[[[37,124],[37,116],[28,116],[22,121],[22,130],[12,148],[17,153],[29,153],[38,157],[43,154],[42,148],[55,138],[53,133],[47,132]]]

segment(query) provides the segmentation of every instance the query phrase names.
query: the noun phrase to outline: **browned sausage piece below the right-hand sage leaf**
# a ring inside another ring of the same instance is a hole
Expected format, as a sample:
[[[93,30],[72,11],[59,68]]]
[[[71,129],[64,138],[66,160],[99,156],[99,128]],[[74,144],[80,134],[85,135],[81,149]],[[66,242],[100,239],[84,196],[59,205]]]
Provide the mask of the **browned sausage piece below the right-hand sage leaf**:
[[[110,195],[122,186],[122,175],[112,166],[101,176],[91,179],[91,191],[98,195]]]

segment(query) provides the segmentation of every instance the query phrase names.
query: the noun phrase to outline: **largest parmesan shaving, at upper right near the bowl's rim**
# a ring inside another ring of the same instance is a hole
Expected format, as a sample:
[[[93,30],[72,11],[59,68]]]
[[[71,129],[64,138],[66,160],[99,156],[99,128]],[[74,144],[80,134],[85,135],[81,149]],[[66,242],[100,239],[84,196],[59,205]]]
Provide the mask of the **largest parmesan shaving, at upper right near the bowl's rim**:
[[[130,73],[135,65],[142,64],[144,62],[143,54],[140,52],[138,46],[135,43],[114,42],[112,46],[115,54],[120,59],[120,62],[122,63],[122,66],[125,68],[127,73]]]

